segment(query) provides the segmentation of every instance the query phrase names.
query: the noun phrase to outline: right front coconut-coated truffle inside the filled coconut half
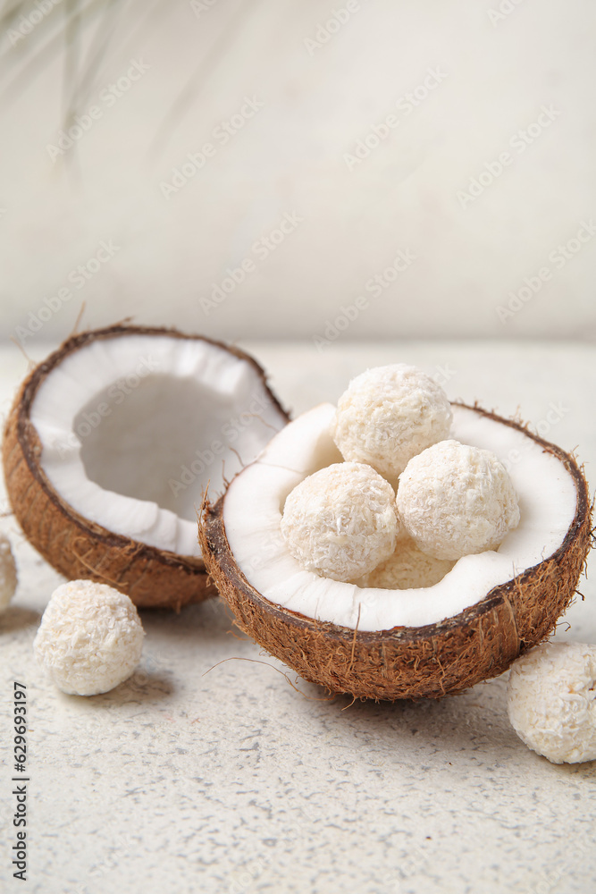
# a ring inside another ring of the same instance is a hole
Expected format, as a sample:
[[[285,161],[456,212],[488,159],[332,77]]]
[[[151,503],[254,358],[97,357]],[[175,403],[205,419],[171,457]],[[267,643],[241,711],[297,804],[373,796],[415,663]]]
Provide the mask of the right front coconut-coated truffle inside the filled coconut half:
[[[435,559],[493,550],[519,524],[508,471],[488,450],[441,441],[413,457],[399,476],[399,519]]]

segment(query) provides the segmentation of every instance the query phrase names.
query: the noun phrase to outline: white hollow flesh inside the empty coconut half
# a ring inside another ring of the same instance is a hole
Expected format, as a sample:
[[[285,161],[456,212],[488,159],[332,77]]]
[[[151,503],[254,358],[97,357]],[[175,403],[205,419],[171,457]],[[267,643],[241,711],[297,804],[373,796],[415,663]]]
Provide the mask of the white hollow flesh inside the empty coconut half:
[[[200,556],[197,509],[286,418],[257,369],[210,342],[88,342],[39,386],[39,465],[73,510],[115,534]]]

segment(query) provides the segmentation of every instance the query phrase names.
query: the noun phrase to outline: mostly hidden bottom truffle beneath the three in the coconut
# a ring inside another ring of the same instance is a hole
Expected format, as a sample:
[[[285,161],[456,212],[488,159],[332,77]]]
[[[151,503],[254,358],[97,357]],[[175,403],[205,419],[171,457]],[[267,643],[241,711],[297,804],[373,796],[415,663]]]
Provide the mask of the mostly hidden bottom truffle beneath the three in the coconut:
[[[357,586],[379,586],[388,590],[438,584],[455,561],[433,559],[419,550],[411,537],[401,536],[389,559],[356,581]]]

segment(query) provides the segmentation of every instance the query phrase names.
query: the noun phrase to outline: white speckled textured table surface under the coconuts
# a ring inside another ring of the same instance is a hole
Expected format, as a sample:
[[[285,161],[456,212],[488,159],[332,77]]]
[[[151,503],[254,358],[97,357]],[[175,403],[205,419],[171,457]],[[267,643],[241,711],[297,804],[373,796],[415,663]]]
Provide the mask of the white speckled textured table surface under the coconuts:
[[[367,366],[403,359],[441,367],[450,397],[506,415],[519,407],[549,426],[547,438],[577,448],[593,485],[595,365],[585,345],[244,347],[295,411],[334,401]],[[21,354],[5,347],[4,414],[25,372]],[[31,652],[61,578],[11,516],[0,522],[21,578],[0,618],[3,891],[595,890],[596,763],[556,766],[527,750],[508,725],[505,678],[440,702],[327,701],[304,681],[300,691],[291,687],[280,662],[234,634],[228,612],[212,601],[179,615],[143,612],[139,671],[104,696],[63,696]],[[567,612],[570,628],[561,623],[559,638],[596,641],[593,578],[583,580],[585,602]],[[13,880],[10,864],[14,679],[29,694],[26,885]]]

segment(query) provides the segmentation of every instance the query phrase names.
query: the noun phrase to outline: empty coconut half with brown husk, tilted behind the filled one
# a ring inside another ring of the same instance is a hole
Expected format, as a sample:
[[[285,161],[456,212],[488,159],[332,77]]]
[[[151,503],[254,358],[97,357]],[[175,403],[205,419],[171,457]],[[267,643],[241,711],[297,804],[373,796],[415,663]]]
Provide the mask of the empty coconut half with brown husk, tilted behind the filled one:
[[[22,384],[4,476],[29,541],[67,578],[139,606],[214,595],[197,509],[288,416],[248,354],[172,329],[75,335]]]

